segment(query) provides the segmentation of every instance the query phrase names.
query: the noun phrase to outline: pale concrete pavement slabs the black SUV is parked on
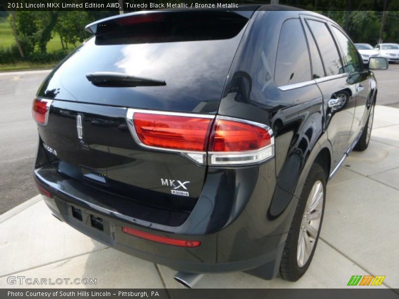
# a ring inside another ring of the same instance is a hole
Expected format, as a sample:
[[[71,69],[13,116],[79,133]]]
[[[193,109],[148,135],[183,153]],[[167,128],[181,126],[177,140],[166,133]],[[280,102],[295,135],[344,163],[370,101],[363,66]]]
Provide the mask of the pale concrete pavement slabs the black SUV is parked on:
[[[345,288],[352,275],[385,275],[381,287],[365,288],[399,289],[398,129],[399,109],[377,106],[369,149],[352,152],[328,183],[321,239],[298,282],[234,272],[206,274],[197,287]],[[0,288],[43,287],[9,285],[9,276],[97,279],[91,286],[48,286],[57,288],[180,288],[172,270],[106,248],[59,222],[40,195],[0,215],[0,265]]]

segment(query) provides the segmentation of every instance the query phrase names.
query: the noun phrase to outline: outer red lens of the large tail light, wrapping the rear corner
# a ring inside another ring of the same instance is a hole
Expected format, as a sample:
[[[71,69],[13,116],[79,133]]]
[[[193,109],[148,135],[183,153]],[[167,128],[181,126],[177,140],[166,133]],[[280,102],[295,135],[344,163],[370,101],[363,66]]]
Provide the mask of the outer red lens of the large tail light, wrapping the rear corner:
[[[216,119],[209,141],[209,151],[244,151],[271,144],[269,132],[261,127],[236,121]]]

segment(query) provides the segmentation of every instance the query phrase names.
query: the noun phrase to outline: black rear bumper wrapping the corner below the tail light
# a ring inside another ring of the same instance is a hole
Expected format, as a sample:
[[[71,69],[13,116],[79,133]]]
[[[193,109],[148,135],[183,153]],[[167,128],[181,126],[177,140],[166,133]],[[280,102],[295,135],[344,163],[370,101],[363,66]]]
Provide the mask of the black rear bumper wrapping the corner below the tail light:
[[[226,177],[230,185],[225,184]],[[50,192],[51,197],[43,198],[51,212],[80,232],[138,258],[191,273],[261,267],[262,274],[258,276],[272,279],[279,269],[297,203],[290,200],[288,205],[276,209],[275,199],[292,196],[275,190],[274,160],[238,170],[209,169],[204,186],[207,191],[202,192],[195,209],[180,226],[128,217],[99,201],[104,192],[65,177],[49,165],[36,168],[34,179]],[[237,189],[237,180],[245,187]],[[231,198],[233,194],[235,197]],[[82,211],[82,220],[73,216],[72,206]],[[103,230],[93,227],[92,216],[103,220]],[[201,245],[183,248],[161,244],[128,235],[122,231],[123,226],[175,239],[198,240]]]

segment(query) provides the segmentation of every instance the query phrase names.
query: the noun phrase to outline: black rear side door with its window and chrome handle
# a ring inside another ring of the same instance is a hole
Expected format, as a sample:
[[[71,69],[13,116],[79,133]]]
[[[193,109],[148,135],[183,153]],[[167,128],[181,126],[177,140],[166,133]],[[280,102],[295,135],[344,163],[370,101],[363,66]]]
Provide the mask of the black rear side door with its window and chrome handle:
[[[313,38],[320,53],[325,77],[316,78],[323,94],[325,130],[333,148],[332,167],[338,164],[349,147],[356,107],[356,83],[344,68],[331,26],[323,19],[305,16],[308,38]]]

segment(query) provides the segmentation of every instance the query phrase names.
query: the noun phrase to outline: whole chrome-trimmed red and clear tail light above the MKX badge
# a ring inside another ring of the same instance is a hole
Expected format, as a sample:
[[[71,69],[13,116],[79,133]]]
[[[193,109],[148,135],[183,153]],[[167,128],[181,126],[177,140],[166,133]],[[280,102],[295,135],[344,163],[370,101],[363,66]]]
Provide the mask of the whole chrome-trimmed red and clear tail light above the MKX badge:
[[[272,130],[259,123],[135,109],[128,109],[126,118],[142,147],[177,151],[199,164],[253,164],[274,155]]]

